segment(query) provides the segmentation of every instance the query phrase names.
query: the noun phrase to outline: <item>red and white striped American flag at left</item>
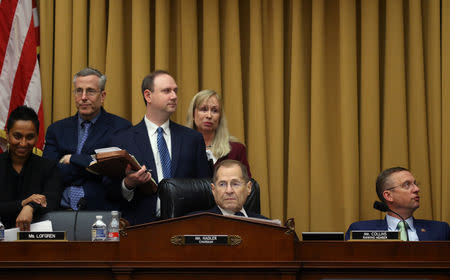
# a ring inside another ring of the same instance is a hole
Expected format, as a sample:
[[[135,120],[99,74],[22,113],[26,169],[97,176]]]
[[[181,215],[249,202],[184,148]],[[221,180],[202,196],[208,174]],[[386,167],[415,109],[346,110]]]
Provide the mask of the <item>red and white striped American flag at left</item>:
[[[9,113],[27,105],[39,116],[38,149],[44,145],[39,19],[34,0],[0,0],[0,150],[5,150]],[[3,139],[1,139],[3,138]]]

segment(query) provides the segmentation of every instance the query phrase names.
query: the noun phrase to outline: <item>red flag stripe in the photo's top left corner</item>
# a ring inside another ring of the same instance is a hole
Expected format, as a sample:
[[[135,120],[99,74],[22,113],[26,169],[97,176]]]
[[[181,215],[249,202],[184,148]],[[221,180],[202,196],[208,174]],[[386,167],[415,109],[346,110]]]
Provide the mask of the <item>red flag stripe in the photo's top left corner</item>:
[[[16,7],[17,0],[0,2],[0,18],[3,18],[3,20],[0,20],[0,74],[3,69],[3,61]]]

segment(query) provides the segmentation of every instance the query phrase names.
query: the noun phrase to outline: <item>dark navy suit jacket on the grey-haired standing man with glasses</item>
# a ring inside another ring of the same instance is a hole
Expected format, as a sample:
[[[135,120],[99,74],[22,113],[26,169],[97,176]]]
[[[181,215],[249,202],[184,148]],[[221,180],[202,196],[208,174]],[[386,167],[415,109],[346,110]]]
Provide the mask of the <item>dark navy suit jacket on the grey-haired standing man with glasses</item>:
[[[111,136],[116,132],[131,127],[131,123],[101,108],[101,114],[92,125],[88,138],[80,154],[78,146],[78,113],[57,121],[47,129],[43,157],[59,161],[66,154],[71,154],[70,164],[58,163],[64,178],[64,186],[83,186],[88,210],[117,209],[117,205],[106,199],[102,177],[86,171],[92,161],[95,149],[110,145]]]

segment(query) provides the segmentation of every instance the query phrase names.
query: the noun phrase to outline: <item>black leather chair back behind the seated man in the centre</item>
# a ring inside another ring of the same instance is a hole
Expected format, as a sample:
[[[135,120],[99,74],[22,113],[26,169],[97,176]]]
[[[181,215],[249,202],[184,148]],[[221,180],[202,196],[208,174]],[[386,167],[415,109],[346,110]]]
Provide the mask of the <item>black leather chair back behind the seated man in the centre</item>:
[[[195,211],[212,208],[216,202],[211,191],[211,179],[171,178],[158,184],[161,201],[161,219],[181,217]],[[259,184],[251,179],[253,187],[244,208],[260,214]]]

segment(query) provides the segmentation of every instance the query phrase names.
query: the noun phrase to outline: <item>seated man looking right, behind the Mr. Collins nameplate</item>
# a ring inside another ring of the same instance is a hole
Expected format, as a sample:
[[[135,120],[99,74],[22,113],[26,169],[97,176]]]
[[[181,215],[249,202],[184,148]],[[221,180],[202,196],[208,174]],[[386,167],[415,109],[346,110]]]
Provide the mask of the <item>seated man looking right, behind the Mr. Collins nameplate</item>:
[[[406,220],[407,229],[401,218],[392,212],[387,212],[384,220],[360,221],[351,224],[345,239],[349,239],[352,230],[399,230],[402,240],[450,240],[450,227],[447,223],[419,220],[413,217],[414,211],[419,208],[419,190],[414,176],[408,169],[393,167],[384,170],[378,175],[376,181],[377,195],[392,212],[397,212]]]

